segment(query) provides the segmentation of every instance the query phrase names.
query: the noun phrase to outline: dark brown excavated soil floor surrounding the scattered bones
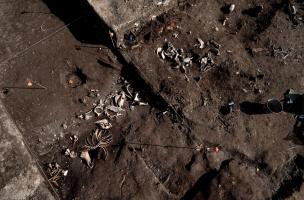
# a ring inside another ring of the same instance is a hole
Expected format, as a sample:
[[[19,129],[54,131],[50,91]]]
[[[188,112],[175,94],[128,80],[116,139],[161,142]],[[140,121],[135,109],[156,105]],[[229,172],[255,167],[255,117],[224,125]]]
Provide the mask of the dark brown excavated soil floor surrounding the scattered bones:
[[[303,199],[294,115],[243,107],[303,92],[303,1],[181,1],[120,49],[83,1],[0,5],[1,98],[58,198]],[[120,116],[92,112],[111,94]],[[101,119],[112,142],[89,167]]]

